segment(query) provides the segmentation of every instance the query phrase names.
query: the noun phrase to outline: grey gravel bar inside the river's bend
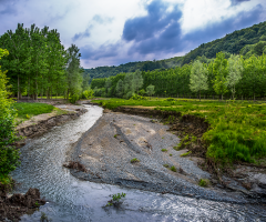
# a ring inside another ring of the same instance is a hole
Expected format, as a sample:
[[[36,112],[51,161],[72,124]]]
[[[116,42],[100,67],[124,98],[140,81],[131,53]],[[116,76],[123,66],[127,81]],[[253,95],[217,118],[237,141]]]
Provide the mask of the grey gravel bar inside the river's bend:
[[[160,111],[140,112],[151,115],[151,112],[158,114]],[[174,149],[180,139],[176,132],[168,130],[170,127],[157,119],[105,110],[73,145],[64,165],[81,180],[197,199],[248,202],[246,198],[250,193],[247,189],[235,184],[232,192],[225,192],[216,178],[197,167],[203,161],[201,158],[181,157],[187,150]],[[201,179],[212,183],[208,188],[201,188]]]

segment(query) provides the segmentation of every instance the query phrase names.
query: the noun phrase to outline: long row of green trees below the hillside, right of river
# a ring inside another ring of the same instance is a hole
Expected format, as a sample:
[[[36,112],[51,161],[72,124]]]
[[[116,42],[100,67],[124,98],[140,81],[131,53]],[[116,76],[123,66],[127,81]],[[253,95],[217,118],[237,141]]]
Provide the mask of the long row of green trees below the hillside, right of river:
[[[137,91],[134,88],[131,88],[131,92],[125,90],[129,89],[125,87],[125,77],[130,77],[132,81],[135,77],[141,77],[143,84],[139,87],[139,92],[143,93],[149,85],[154,85],[156,97],[265,98],[266,56],[245,59],[243,56],[226,57],[226,53],[219,52],[214,59],[198,57],[194,62],[174,69],[136,71],[93,79],[91,88],[95,95],[130,98]]]

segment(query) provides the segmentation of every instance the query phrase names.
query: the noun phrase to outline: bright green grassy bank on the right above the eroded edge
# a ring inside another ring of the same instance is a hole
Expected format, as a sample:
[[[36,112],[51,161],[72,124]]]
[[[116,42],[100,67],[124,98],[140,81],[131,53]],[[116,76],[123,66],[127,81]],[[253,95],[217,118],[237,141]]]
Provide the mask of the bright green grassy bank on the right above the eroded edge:
[[[211,127],[203,134],[206,158],[225,164],[266,164],[266,103],[250,101],[198,101],[190,99],[94,101],[108,109],[142,105],[204,118]]]

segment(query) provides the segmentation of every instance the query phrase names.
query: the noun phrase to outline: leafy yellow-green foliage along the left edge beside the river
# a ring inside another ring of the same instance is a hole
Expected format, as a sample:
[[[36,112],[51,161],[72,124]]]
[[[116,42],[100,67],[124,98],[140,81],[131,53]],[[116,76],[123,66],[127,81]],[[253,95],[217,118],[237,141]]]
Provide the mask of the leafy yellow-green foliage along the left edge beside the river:
[[[0,49],[0,59],[8,56],[8,50]],[[7,71],[0,67],[0,183],[9,183],[8,174],[19,165],[19,151],[10,144],[18,140],[14,132],[14,111],[7,90]]]

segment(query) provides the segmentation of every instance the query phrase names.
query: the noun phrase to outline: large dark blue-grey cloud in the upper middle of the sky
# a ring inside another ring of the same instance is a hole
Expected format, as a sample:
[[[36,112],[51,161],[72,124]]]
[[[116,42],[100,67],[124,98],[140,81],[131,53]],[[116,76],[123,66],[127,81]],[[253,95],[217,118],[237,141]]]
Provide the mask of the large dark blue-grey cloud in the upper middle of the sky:
[[[168,10],[172,7],[172,10]],[[154,53],[176,51],[176,41],[181,36],[180,19],[182,12],[178,4],[170,4],[160,0],[146,6],[147,14],[126,20],[123,40],[134,41],[129,53]]]

